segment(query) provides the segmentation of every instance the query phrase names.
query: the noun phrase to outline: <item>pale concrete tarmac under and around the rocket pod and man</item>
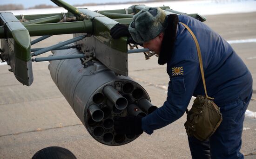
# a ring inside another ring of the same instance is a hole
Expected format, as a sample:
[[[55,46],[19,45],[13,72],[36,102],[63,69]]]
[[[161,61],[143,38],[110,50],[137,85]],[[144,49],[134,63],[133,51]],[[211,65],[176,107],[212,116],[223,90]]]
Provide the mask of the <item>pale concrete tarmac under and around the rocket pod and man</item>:
[[[256,38],[256,13],[207,16],[205,22],[226,40]],[[33,37],[32,39],[35,39]],[[53,36],[36,44],[45,47],[72,38]],[[232,44],[256,79],[256,43]],[[43,56],[47,56],[43,55]],[[34,83],[20,84],[7,65],[0,66],[0,159],[30,159],[42,148],[61,146],[78,159],[190,159],[186,114],[174,123],[123,146],[106,146],[94,140],[52,81],[48,62],[33,63]],[[157,57],[128,55],[129,76],[148,92],[152,103],[166,99],[168,75]],[[234,64],[236,67],[236,64]],[[224,73],[224,72],[223,72]],[[256,112],[256,80],[249,110]],[[189,104],[191,107],[192,100]],[[256,158],[256,119],[245,118],[241,152]]]

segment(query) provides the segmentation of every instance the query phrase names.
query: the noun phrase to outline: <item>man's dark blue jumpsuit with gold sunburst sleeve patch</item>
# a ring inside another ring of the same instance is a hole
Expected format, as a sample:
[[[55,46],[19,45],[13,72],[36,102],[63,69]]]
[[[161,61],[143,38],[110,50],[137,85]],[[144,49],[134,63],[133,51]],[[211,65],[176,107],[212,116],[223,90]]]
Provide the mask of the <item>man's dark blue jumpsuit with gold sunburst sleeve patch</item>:
[[[240,153],[244,113],[252,95],[252,76],[232,47],[199,20],[179,15],[200,45],[207,92],[220,107],[222,123],[209,140],[189,137],[195,159],[243,159]],[[162,52],[161,52],[162,53]],[[161,55],[160,53],[160,55]],[[167,61],[168,97],[163,106],[142,118],[142,129],[152,134],[185,113],[193,96],[205,95],[195,42],[189,31],[177,25],[174,49]]]

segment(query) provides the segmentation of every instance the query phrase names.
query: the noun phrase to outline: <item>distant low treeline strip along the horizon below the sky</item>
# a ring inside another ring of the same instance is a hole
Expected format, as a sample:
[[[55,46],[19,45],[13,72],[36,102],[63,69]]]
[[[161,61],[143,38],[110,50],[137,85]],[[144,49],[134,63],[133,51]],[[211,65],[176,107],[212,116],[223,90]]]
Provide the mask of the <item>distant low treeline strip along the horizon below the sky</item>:
[[[109,2],[109,3],[84,3],[84,4],[75,4],[74,6],[97,6],[97,5],[115,5],[115,4],[128,4],[128,3],[147,3],[147,2],[159,2],[159,1],[170,1],[170,0],[131,0],[125,2]],[[22,10],[22,9],[40,9],[40,8],[54,8],[57,6],[52,5],[36,5],[34,7],[24,8],[22,4],[8,4],[8,5],[0,5],[0,11],[7,10]]]

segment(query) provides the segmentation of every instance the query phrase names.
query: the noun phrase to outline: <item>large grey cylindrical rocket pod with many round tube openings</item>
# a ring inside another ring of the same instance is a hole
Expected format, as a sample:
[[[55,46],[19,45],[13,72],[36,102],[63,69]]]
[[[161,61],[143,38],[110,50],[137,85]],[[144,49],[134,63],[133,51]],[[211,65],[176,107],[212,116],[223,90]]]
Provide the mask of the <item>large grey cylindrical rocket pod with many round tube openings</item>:
[[[81,54],[76,49],[53,52],[53,57]],[[111,101],[110,104],[108,103],[109,97],[106,95],[106,89],[105,92],[103,89],[106,86],[115,88],[115,92],[118,91],[121,97],[123,96],[128,100],[129,104],[135,104],[142,98],[150,101],[148,93],[141,85],[127,76],[116,76],[114,71],[107,69],[106,66],[96,60],[87,63],[87,67],[84,67],[79,59],[51,61],[48,68],[54,83],[95,140],[105,145],[118,146],[127,144],[139,136],[116,134],[113,127],[113,117],[118,114],[115,112],[118,109]],[[140,99],[133,98],[133,89],[143,90]],[[101,108],[104,113],[103,120],[94,121],[92,119],[88,111],[92,105]],[[128,115],[126,108],[119,111],[118,116]]]

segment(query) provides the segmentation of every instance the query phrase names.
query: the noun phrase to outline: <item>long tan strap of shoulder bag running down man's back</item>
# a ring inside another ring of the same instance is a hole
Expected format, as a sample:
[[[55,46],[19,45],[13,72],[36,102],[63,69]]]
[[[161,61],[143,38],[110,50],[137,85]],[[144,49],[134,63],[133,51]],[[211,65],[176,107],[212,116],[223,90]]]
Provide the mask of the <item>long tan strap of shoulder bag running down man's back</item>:
[[[199,46],[198,41],[197,41],[197,39],[195,37],[195,34],[191,31],[191,29],[189,28],[188,25],[185,25],[182,22],[180,22],[180,23],[185,26],[185,28],[189,31],[189,33],[192,35],[192,37],[193,37],[193,39],[195,41],[197,55],[198,55],[199,64],[200,64],[201,75],[202,75],[202,83],[203,83],[203,87],[204,87],[204,92],[205,92],[206,98],[214,100],[214,98],[211,98],[211,97],[209,97],[207,95],[206,84],[205,84],[205,79],[204,79],[204,72],[203,72],[203,65],[202,65],[202,55],[201,55],[200,46]]]

